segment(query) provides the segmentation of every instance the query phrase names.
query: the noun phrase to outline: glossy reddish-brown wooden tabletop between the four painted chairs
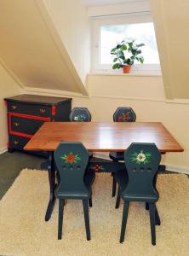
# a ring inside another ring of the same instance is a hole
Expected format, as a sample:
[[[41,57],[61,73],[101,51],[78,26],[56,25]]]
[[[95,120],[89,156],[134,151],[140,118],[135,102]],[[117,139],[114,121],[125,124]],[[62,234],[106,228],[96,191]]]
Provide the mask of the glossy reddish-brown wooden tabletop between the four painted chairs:
[[[163,124],[158,122],[47,122],[26,144],[25,149],[54,151],[61,141],[82,142],[93,152],[121,152],[130,143],[156,143],[162,153],[183,151]]]

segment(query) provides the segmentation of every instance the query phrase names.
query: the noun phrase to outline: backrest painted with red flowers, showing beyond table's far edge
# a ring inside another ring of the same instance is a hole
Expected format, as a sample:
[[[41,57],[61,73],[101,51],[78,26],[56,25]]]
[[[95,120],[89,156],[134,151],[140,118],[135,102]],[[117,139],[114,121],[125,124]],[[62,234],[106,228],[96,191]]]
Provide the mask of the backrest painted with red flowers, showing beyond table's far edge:
[[[113,114],[114,122],[135,122],[136,115],[133,108],[117,108]]]

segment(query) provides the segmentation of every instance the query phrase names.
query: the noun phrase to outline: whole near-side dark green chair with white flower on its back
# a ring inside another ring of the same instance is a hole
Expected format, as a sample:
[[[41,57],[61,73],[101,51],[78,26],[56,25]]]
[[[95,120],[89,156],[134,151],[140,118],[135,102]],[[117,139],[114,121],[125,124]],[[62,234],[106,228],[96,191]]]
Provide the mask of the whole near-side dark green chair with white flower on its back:
[[[120,197],[124,202],[120,242],[124,241],[129,202],[144,201],[149,206],[152,245],[155,245],[155,225],[160,224],[155,203],[159,198],[156,176],[161,154],[154,143],[132,143],[124,152],[124,160],[127,171],[120,171],[115,175],[119,186],[116,208],[119,207]]]

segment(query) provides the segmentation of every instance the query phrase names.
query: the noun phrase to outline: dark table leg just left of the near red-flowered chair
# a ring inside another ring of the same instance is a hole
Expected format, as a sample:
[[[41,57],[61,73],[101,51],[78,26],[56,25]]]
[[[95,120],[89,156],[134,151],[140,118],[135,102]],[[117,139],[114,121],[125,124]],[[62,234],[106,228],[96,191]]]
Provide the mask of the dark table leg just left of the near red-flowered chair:
[[[51,214],[54,209],[55,203],[55,196],[54,196],[54,189],[55,189],[55,170],[54,170],[54,152],[50,153],[49,155],[49,165],[48,165],[48,172],[49,172],[49,205],[47,207],[47,212],[45,214],[45,221],[49,221],[51,218]]]

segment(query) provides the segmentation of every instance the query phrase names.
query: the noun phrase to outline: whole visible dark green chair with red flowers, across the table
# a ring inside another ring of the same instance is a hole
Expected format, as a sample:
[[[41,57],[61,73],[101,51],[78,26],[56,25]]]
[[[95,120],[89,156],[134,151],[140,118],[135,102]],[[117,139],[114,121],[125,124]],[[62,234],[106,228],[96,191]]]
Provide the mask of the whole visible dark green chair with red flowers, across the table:
[[[133,108],[117,108],[115,113],[113,113],[113,121],[114,122],[135,122],[136,120],[136,114],[133,110]],[[112,159],[114,162],[124,160],[124,154],[123,152],[111,152],[109,154],[110,159]],[[112,183],[112,197],[116,195],[116,180],[113,177],[113,183]]]

